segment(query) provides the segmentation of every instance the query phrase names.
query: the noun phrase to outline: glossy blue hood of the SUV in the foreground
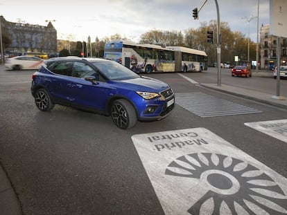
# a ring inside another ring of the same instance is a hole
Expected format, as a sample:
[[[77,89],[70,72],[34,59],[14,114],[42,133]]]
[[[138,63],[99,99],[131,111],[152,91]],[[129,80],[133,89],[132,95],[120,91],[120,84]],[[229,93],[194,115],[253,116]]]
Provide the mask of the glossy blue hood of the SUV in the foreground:
[[[112,82],[116,83],[118,86],[122,86],[123,88],[128,88],[130,90],[132,89],[134,91],[160,92],[170,88],[168,84],[162,81],[144,76],[130,80],[119,80]]]

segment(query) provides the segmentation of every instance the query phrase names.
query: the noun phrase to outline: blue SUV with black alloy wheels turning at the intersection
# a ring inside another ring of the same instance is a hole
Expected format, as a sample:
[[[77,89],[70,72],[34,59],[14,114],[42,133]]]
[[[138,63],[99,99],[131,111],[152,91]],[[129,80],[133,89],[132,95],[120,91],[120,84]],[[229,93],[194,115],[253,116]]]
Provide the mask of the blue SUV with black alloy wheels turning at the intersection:
[[[56,57],[33,74],[31,93],[41,111],[54,104],[111,115],[121,129],[165,118],[175,106],[168,84],[106,59]]]

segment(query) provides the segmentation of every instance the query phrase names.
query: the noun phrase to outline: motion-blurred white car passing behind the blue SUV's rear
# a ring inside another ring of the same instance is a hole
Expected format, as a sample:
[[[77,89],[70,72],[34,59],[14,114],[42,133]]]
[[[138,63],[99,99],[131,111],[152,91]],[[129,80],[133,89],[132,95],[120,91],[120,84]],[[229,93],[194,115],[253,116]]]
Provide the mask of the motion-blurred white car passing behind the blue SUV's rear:
[[[38,69],[44,60],[39,57],[17,56],[6,59],[5,66],[8,70]]]

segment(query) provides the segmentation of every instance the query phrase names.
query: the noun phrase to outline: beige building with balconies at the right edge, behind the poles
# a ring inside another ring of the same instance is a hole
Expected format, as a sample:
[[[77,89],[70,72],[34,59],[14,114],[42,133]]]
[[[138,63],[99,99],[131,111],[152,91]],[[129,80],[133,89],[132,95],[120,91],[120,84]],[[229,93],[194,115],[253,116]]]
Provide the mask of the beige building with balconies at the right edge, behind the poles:
[[[277,37],[270,35],[270,25],[261,26],[261,68],[272,69],[277,66]],[[287,60],[287,39],[281,37],[280,39],[280,65],[286,65]]]

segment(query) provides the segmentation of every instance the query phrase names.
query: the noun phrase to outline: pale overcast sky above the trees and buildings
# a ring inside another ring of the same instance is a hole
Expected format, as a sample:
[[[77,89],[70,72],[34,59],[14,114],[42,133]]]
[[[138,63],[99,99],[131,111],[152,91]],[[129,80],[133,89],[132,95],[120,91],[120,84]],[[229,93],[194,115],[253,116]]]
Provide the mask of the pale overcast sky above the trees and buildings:
[[[192,17],[193,8],[205,0],[82,0],[35,1],[0,0],[0,15],[7,21],[46,26],[45,20],[55,20],[58,39],[73,35],[74,40],[92,41],[116,33],[138,41],[149,30],[184,30],[198,28],[201,22],[217,20],[216,3],[208,0],[200,10],[199,19]],[[248,35],[244,17],[257,16],[257,0],[218,0],[220,21],[232,31]],[[269,24],[269,0],[259,0],[259,29]],[[250,38],[256,41],[257,20],[250,21]]]

